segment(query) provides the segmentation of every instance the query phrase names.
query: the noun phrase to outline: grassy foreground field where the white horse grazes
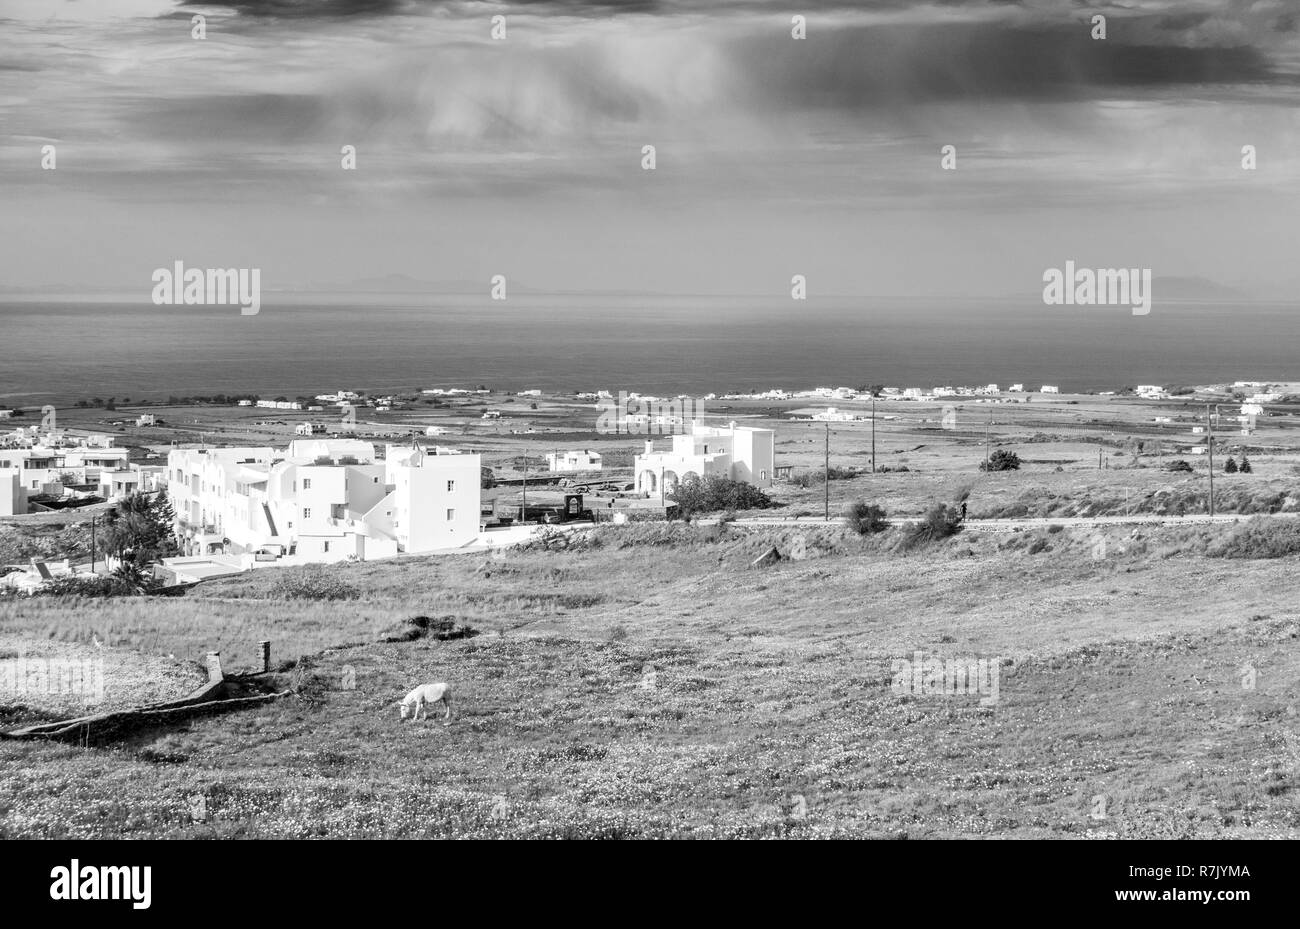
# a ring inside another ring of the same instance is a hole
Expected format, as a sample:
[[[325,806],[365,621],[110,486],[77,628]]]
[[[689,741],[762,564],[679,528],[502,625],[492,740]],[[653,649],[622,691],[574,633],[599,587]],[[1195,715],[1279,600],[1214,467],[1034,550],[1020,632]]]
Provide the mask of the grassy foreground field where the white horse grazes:
[[[1098,556],[1069,529],[902,554],[901,530],[646,525],[332,569],[354,600],[276,599],[265,570],[4,603],[6,642],[304,660],[256,709],[0,742],[0,837],[1294,838],[1296,556],[1228,557],[1243,531],[1112,529]],[[803,557],[750,568],[770,546]],[[416,615],[480,634],[377,641]],[[900,694],[916,651],[987,660],[996,703]],[[451,725],[398,719],[425,681]]]

